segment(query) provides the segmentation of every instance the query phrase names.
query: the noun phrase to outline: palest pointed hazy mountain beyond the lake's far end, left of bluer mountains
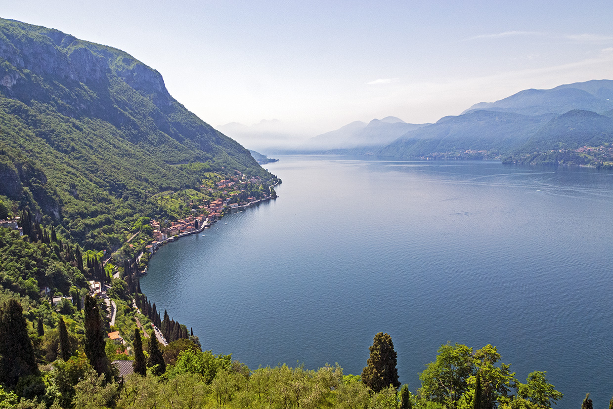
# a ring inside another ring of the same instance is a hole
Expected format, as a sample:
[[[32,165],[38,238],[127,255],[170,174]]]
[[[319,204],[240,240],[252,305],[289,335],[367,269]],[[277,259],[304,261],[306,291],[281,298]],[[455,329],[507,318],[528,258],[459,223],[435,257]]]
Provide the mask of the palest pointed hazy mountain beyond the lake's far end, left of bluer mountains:
[[[373,119],[368,124],[362,121],[355,121],[337,130],[322,133],[311,138],[307,141],[304,148],[329,150],[384,146],[406,132],[425,125],[427,124],[407,124],[395,116]]]

